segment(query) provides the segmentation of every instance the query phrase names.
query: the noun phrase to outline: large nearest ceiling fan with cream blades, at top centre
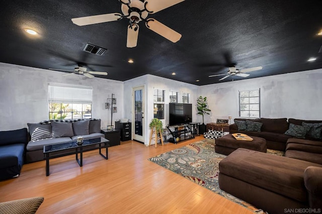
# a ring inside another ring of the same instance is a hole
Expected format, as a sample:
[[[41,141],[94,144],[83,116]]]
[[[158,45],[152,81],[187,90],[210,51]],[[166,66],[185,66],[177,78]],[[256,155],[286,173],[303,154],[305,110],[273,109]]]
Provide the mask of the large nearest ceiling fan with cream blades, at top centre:
[[[123,15],[119,13],[103,14],[96,16],[73,18],[71,19],[71,21],[78,26],[84,26],[104,22],[118,21],[123,18],[128,18],[129,26],[127,27],[126,43],[126,47],[128,48],[136,47],[137,38],[139,34],[138,23],[140,21],[144,21],[145,26],[148,29],[165,37],[171,42],[176,43],[180,40],[181,34],[165,26],[164,24],[156,21],[155,19],[147,19],[146,17],[148,14],[154,14],[183,1],[185,0],[145,0],[144,2],[141,2],[140,0],[119,0],[119,2],[121,3],[121,11]]]

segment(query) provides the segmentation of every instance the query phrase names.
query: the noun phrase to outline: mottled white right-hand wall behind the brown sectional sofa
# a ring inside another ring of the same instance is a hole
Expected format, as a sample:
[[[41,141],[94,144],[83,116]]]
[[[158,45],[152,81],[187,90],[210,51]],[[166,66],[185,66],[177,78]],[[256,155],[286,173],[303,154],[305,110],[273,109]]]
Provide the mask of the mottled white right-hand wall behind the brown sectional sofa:
[[[238,90],[258,88],[262,118],[322,120],[322,69],[316,69],[200,86],[211,110],[205,124],[228,116],[233,122],[238,118]]]

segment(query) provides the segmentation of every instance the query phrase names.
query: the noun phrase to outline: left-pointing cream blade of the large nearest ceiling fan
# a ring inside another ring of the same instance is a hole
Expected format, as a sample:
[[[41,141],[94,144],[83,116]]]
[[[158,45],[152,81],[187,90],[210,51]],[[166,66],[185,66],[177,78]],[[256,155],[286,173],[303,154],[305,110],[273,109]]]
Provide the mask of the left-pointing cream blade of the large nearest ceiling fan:
[[[103,22],[112,22],[122,19],[122,15],[115,13],[115,14],[103,14],[103,15],[96,15],[96,16],[89,16],[89,17],[80,17],[80,18],[73,18],[71,19],[72,23],[78,26],[84,25],[93,25]]]

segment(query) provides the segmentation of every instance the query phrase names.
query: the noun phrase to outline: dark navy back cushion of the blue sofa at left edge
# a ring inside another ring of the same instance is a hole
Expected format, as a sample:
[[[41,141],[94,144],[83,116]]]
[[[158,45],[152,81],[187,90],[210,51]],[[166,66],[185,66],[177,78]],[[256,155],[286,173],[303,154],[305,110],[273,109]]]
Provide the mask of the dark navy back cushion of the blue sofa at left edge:
[[[27,128],[0,132],[0,146],[20,143],[28,143]]]

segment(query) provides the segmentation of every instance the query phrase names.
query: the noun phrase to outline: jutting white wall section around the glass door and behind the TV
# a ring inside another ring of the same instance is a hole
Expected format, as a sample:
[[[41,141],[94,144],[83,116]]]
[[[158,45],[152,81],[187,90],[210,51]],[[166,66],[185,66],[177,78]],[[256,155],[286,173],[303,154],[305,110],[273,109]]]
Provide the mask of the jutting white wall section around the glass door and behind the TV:
[[[164,89],[166,90],[165,103],[166,108],[164,112],[165,119],[162,120],[164,127],[169,123],[169,101],[170,101],[170,90],[179,92],[179,102],[182,102],[182,93],[190,93],[191,94],[191,103],[192,103],[192,121],[200,121],[200,118],[197,116],[196,109],[196,100],[198,93],[198,87],[196,85],[171,80],[163,77],[158,77],[154,75],[144,75],[134,79],[130,79],[124,82],[124,116],[125,118],[132,119],[132,88],[137,86],[145,85],[145,140],[144,144],[147,145],[149,143],[150,130],[148,125],[150,121],[153,119],[153,89]],[[133,131],[133,130],[132,130]]]

